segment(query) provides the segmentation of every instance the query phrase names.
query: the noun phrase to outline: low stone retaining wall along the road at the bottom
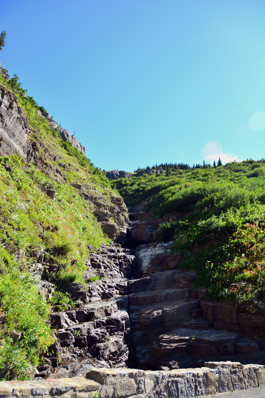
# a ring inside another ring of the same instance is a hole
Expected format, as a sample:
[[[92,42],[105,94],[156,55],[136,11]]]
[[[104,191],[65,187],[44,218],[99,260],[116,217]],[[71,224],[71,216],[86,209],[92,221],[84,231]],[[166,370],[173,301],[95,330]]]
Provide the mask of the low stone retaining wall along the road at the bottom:
[[[205,367],[142,371],[92,369],[86,377],[0,382],[0,397],[189,398],[265,384],[265,366],[205,362]]]

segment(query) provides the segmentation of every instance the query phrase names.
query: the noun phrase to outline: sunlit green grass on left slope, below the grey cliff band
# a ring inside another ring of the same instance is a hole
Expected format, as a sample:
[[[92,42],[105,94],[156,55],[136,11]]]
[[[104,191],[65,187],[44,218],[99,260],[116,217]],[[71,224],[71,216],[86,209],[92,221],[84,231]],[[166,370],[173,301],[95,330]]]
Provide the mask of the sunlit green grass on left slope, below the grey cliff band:
[[[11,173],[4,164],[12,166]],[[48,182],[55,186],[55,199],[43,191]],[[87,206],[74,188],[49,181],[17,156],[0,158],[0,377],[30,377],[53,342],[47,323],[50,305],[31,277],[34,252],[45,250],[45,261],[56,268],[46,277],[59,289],[84,281],[88,243],[97,248],[109,242]],[[51,303],[72,305],[64,296],[55,292]],[[17,341],[14,330],[21,333]]]

